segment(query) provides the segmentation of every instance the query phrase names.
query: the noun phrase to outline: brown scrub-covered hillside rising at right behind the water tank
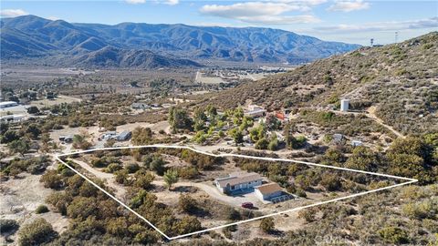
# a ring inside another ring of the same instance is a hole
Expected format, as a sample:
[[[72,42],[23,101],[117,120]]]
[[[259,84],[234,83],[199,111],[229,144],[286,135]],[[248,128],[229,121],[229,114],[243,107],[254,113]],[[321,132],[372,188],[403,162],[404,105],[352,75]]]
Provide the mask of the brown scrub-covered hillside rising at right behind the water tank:
[[[400,44],[361,47],[285,74],[246,83],[203,102],[235,108],[252,102],[270,109],[332,108],[349,98],[405,134],[438,132],[438,33]]]

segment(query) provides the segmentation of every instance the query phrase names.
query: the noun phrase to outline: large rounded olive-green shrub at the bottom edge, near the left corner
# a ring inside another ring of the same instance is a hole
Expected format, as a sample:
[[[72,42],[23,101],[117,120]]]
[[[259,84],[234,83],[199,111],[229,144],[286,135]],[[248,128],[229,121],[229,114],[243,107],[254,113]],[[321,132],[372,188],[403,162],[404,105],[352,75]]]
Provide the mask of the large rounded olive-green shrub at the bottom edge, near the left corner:
[[[18,231],[18,243],[20,245],[40,245],[51,241],[56,236],[52,225],[42,218],[24,225]]]

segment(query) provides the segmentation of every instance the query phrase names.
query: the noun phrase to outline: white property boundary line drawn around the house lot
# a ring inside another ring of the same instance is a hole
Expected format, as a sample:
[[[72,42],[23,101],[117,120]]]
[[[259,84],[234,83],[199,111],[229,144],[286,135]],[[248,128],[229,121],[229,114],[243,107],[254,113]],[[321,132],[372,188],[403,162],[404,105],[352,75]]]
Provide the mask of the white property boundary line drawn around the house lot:
[[[136,212],[135,210],[132,210],[128,205],[126,205],[122,201],[118,200],[113,195],[111,195],[110,192],[108,192],[107,190],[103,190],[101,187],[99,187],[99,185],[97,185],[91,179],[87,178],[85,175],[81,174],[78,170],[76,170],[73,167],[69,166],[65,161],[60,159],[61,157],[67,157],[67,156],[75,155],[75,154],[89,153],[89,152],[94,152],[94,151],[99,151],[99,150],[143,149],[143,148],[189,149],[189,150],[192,150],[193,152],[197,152],[197,153],[200,153],[200,154],[203,154],[203,155],[212,156],[212,157],[237,157],[237,158],[245,158],[245,159],[263,159],[263,160],[269,160],[269,161],[294,162],[294,163],[305,164],[305,165],[308,165],[308,166],[315,166],[315,167],[328,168],[328,169],[347,170],[347,171],[359,172],[359,173],[370,174],[370,175],[374,175],[374,176],[386,177],[386,178],[391,178],[391,179],[401,179],[401,180],[406,180],[406,181],[402,182],[400,184],[395,184],[395,185],[391,185],[391,186],[388,186],[388,187],[379,188],[379,189],[376,189],[376,190],[367,190],[367,191],[363,191],[363,192],[360,192],[360,193],[357,193],[357,194],[352,194],[352,195],[349,195],[349,196],[346,196],[346,197],[341,197],[341,198],[337,198],[337,199],[333,199],[333,200],[320,201],[320,202],[317,202],[317,203],[313,203],[313,204],[309,204],[309,205],[306,205],[306,206],[294,208],[294,209],[291,209],[291,210],[278,211],[278,212],[275,212],[275,213],[270,213],[270,214],[266,214],[266,215],[263,215],[263,216],[255,217],[255,218],[252,218],[252,219],[249,219],[249,220],[240,220],[240,221],[229,223],[229,224],[225,224],[225,225],[222,225],[222,226],[216,226],[214,228],[209,228],[209,229],[204,229],[204,230],[201,230],[201,231],[194,231],[194,232],[186,233],[186,234],[183,234],[183,235],[169,237],[164,232],[162,232],[160,229],[158,229],[155,225],[153,225],[151,223],[151,221],[146,220],[138,212]],[[389,190],[389,189],[392,189],[392,188],[395,188],[395,187],[399,187],[399,186],[403,186],[403,185],[407,185],[407,184],[418,182],[418,179],[410,179],[410,178],[405,178],[405,177],[399,177],[399,176],[394,176],[394,175],[389,175],[389,174],[382,174],[382,173],[370,172],[370,171],[364,171],[364,170],[357,170],[357,169],[346,169],[346,168],[340,168],[340,167],[333,167],[333,166],[322,165],[322,164],[306,162],[306,161],[301,161],[301,160],[275,159],[275,158],[266,158],[266,157],[245,156],[245,155],[238,155],[238,154],[218,154],[218,155],[215,155],[213,153],[205,152],[205,151],[199,150],[199,149],[193,149],[192,147],[188,147],[188,146],[162,145],[162,144],[143,145],[143,146],[125,146],[125,147],[113,147],[113,148],[100,148],[100,149],[87,149],[87,150],[80,150],[80,151],[71,152],[71,153],[67,153],[67,154],[56,155],[55,159],[57,159],[57,161],[61,162],[62,164],[66,165],[69,169],[72,169],[74,172],[76,172],[83,179],[86,179],[87,181],[89,181],[89,183],[91,183],[94,187],[96,187],[100,191],[102,191],[105,194],[107,194],[111,199],[116,200],[117,202],[119,202],[121,206],[123,206],[127,210],[130,210],[132,213],[137,215],[141,220],[144,220],[147,224],[149,224],[151,226],[151,228],[153,228],[156,231],[158,231],[160,234],[162,234],[162,236],[164,238],[166,238],[169,241],[175,240],[175,239],[185,238],[185,237],[192,236],[192,235],[195,235],[195,234],[200,234],[200,233],[203,233],[203,232],[206,232],[206,231],[214,231],[214,230],[217,230],[217,229],[222,229],[222,228],[225,228],[225,227],[229,227],[229,226],[233,226],[233,225],[238,225],[238,224],[249,222],[249,221],[260,220],[260,219],[263,219],[263,218],[272,217],[272,216],[288,213],[288,212],[291,212],[291,211],[307,209],[307,208],[310,208],[310,207],[315,207],[315,206],[322,205],[322,204],[327,204],[327,203],[330,203],[330,202],[335,202],[335,201],[339,201],[339,200],[348,200],[348,199],[351,199],[351,198],[359,197],[359,196],[370,194],[370,193],[373,193],[373,192],[377,192],[377,191],[381,191],[381,190]]]

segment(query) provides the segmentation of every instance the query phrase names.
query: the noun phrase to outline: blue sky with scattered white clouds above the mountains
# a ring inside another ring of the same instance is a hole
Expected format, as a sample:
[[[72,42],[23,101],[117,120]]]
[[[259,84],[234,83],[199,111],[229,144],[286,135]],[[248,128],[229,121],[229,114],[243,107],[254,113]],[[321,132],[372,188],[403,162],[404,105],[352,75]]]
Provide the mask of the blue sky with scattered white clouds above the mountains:
[[[38,15],[76,23],[263,26],[324,40],[388,44],[438,30],[438,1],[113,0],[2,1],[1,16]]]

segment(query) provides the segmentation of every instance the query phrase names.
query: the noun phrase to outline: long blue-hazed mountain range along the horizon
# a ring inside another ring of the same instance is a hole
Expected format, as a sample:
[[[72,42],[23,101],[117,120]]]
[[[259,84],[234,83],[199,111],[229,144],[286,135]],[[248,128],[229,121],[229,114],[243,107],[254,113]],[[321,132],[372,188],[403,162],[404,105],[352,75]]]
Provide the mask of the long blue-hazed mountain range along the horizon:
[[[72,24],[35,15],[3,18],[0,26],[3,47],[1,55],[5,59],[81,56],[112,46],[124,50],[151,50],[162,56],[198,61],[220,59],[297,64],[342,54],[359,47],[258,27]]]

